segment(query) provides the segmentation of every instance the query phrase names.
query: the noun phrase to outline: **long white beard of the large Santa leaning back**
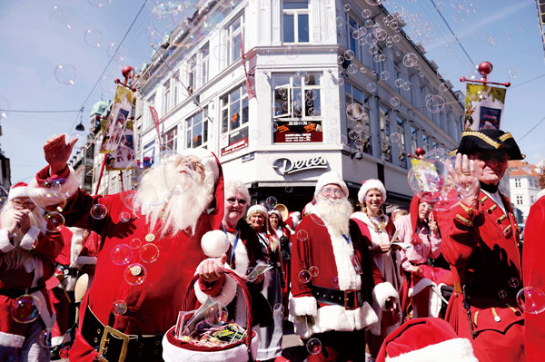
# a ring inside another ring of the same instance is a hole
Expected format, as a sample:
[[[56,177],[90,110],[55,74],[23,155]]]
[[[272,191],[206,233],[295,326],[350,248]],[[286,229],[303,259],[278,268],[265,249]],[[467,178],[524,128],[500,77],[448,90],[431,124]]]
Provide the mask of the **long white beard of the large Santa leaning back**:
[[[134,196],[136,210],[146,217],[154,230],[163,213],[161,235],[175,235],[184,230],[193,235],[197,220],[213,200],[213,180],[195,171],[181,173],[173,161],[146,171]]]

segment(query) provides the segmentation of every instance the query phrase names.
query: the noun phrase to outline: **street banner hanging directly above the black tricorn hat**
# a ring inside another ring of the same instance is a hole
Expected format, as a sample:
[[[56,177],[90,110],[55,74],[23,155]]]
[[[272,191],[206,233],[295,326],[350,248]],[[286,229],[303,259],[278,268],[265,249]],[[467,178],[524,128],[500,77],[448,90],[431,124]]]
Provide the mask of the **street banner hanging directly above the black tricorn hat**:
[[[464,130],[501,129],[505,88],[467,84]]]

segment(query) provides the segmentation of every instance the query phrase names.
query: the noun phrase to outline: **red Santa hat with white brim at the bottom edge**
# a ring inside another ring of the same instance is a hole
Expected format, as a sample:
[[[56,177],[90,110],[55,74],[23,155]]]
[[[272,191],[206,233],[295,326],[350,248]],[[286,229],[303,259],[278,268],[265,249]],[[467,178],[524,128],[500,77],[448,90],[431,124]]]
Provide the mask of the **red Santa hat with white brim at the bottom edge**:
[[[479,362],[468,338],[441,318],[414,318],[391,332],[376,362]]]

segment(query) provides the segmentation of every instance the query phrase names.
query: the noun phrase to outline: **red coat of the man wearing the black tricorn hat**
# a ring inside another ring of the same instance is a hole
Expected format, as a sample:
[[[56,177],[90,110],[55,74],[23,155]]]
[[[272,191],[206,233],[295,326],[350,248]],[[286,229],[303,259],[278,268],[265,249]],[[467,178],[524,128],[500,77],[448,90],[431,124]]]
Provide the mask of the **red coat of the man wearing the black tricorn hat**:
[[[441,252],[455,280],[446,320],[459,337],[471,340],[481,362],[525,360],[524,318],[515,300],[521,287],[518,227],[509,201],[503,197],[502,201],[507,215],[483,191],[476,209],[461,203],[436,213]],[[464,284],[471,298],[475,338],[463,307]]]

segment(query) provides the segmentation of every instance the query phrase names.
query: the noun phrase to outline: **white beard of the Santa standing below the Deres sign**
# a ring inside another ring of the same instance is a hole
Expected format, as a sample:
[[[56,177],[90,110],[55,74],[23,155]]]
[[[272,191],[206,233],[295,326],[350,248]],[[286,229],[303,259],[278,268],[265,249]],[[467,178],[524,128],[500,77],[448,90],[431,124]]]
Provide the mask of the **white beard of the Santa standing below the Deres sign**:
[[[314,211],[325,222],[328,228],[348,235],[350,216],[353,208],[348,199],[316,199]]]

